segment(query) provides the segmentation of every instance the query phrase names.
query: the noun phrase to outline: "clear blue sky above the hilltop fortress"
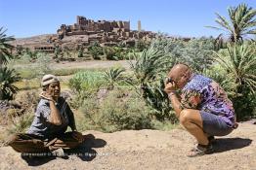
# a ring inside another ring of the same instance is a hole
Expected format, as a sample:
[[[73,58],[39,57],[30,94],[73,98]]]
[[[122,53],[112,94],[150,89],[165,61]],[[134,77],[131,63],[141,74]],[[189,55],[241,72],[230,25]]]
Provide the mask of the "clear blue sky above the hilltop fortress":
[[[61,24],[73,24],[76,16],[95,20],[130,20],[131,29],[171,36],[218,36],[206,28],[217,26],[215,13],[228,16],[228,7],[256,0],[0,0],[0,27],[16,38],[57,33]]]

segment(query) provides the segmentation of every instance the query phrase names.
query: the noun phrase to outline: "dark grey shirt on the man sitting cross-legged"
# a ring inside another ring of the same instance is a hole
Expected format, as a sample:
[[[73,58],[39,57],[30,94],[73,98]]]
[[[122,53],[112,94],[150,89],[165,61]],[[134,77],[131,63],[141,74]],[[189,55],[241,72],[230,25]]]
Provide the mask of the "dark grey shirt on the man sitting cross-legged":
[[[41,99],[27,133],[37,135],[44,139],[53,139],[63,134],[68,125],[73,128],[75,126],[73,113],[63,97],[59,98],[56,107],[64,118],[64,122],[61,125],[55,125],[49,121],[51,114],[50,103],[46,99]]]

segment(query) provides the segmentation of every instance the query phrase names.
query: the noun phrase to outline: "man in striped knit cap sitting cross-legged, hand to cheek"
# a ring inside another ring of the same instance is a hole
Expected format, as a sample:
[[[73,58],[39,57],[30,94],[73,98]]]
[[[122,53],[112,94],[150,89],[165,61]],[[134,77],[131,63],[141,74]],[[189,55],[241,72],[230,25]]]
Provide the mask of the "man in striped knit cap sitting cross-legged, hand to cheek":
[[[42,79],[43,92],[37,106],[35,117],[27,133],[11,137],[7,145],[19,153],[48,153],[64,155],[63,149],[75,148],[83,142],[77,132],[73,113],[60,97],[61,86],[54,75]],[[66,132],[67,126],[71,132]]]

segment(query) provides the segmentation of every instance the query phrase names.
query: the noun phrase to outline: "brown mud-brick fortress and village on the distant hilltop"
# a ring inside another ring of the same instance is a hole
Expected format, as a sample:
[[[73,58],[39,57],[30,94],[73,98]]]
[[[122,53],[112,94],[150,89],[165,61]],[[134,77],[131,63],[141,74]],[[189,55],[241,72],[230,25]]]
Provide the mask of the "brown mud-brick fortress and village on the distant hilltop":
[[[149,41],[155,35],[153,32],[142,30],[141,21],[138,21],[138,30],[131,30],[130,21],[95,21],[77,16],[76,23],[62,24],[57,34],[18,39],[13,44],[31,51],[53,53],[57,46],[72,50],[77,46],[88,47],[93,43],[98,43],[102,47],[115,46],[118,43],[133,47],[136,41]]]

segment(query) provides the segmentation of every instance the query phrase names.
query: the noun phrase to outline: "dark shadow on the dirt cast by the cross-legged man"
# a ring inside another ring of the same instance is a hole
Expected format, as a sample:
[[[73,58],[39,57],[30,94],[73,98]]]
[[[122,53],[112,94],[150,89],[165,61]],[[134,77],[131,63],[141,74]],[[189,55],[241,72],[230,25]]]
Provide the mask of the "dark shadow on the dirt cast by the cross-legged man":
[[[95,138],[92,134],[83,136],[85,139],[84,142],[78,148],[64,150],[65,156],[62,158],[68,159],[70,155],[76,155],[83,161],[92,161],[97,156],[97,152],[93,148],[103,148],[107,145],[105,140]],[[24,159],[29,166],[40,166],[56,159],[57,157],[51,155],[51,153],[39,153],[34,156],[21,154],[21,158]]]

